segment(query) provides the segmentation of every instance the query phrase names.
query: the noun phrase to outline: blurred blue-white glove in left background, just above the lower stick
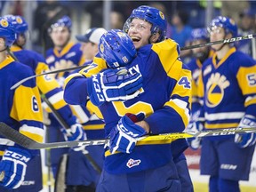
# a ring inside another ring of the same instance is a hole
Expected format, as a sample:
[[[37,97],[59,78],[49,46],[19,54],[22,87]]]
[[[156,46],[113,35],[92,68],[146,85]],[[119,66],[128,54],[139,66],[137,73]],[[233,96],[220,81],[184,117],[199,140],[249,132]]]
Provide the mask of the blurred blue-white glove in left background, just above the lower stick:
[[[69,129],[60,129],[64,134],[64,138],[67,141],[72,140],[87,140],[86,133],[84,132],[81,124],[73,124]]]

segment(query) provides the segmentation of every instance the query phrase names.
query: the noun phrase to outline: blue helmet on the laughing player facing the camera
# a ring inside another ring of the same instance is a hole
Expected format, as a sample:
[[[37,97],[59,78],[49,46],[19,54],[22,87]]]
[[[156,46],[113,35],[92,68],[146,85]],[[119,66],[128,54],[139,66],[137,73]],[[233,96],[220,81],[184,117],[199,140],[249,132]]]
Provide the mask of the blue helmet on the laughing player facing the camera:
[[[134,18],[148,21],[150,24],[152,24],[151,34],[160,34],[157,42],[164,40],[167,29],[167,21],[165,20],[163,12],[159,11],[155,7],[141,5],[140,7],[134,9],[131,16],[125,21],[124,31],[126,33],[128,32],[130,24]]]

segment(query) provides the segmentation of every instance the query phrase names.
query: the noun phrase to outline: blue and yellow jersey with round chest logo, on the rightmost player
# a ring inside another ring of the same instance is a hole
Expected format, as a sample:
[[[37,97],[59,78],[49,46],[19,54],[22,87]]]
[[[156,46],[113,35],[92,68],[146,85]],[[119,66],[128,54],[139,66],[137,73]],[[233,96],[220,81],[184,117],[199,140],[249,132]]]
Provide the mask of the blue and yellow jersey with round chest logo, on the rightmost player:
[[[256,62],[231,48],[220,61],[205,60],[198,93],[206,129],[237,127],[244,114],[256,116]]]

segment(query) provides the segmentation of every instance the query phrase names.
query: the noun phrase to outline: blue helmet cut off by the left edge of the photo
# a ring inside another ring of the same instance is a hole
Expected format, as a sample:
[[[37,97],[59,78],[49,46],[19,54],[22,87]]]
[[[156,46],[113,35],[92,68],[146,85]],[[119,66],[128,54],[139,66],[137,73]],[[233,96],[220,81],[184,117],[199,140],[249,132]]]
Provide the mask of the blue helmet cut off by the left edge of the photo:
[[[10,47],[16,40],[16,33],[12,23],[3,17],[0,17],[0,37],[4,38],[5,45]]]

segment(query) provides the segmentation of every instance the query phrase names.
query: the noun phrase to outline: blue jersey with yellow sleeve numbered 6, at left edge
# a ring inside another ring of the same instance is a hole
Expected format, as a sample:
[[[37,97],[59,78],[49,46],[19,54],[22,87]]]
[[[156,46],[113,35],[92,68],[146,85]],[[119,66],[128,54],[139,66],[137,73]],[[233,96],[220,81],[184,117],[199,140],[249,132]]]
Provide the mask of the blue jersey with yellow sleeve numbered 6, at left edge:
[[[35,79],[10,90],[21,79],[34,75],[31,68],[14,61],[10,56],[0,63],[0,122],[32,140],[43,142],[43,111]],[[14,146],[14,143],[0,136],[0,156],[4,155],[4,150],[9,146]]]

